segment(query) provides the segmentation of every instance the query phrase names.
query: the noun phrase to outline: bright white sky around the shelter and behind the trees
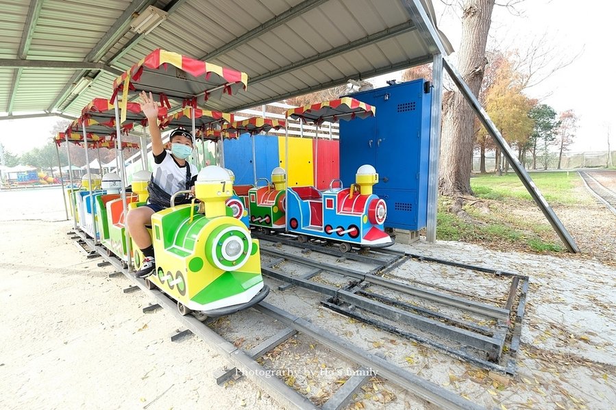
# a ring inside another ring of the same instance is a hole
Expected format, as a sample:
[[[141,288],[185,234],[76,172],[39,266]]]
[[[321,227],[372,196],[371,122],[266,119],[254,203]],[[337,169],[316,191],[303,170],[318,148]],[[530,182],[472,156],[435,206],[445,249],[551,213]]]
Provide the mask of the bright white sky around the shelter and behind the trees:
[[[458,49],[460,18],[455,9],[445,6],[442,0],[432,2],[439,16],[439,29],[454,49]],[[543,44],[554,50],[554,60],[579,54],[569,66],[526,90],[528,97],[540,99],[556,112],[574,110],[579,120],[574,143],[569,147],[571,152],[606,151],[608,127],[611,149],[616,150],[616,81],[611,77],[613,66],[608,63],[611,55],[608,47],[616,38],[613,23],[616,3],[590,4],[600,4],[600,7],[596,10],[584,8],[575,0],[524,0],[515,5],[517,13],[512,13],[496,6],[490,30],[489,47],[497,44],[506,50],[526,49],[528,44],[545,36]],[[455,62],[455,55],[452,58]],[[399,75],[376,77],[375,85],[385,86],[386,79],[399,78]],[[0,142],[14,154],[42,146],[51,138],[49,130],[56,120],[1,120]]]

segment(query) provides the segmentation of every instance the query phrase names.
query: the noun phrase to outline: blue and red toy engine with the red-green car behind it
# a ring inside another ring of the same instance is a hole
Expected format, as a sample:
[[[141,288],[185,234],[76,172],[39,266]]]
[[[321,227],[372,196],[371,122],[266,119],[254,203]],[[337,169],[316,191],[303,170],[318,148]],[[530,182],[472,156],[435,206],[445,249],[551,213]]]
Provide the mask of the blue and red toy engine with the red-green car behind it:
[[[350,251],[352,245],[393,244],[383,227],[385,201],[372,192],[378,182],[373,166],[361,166],[349,188],[334,180],[323,192],[313,186],[291,187],[287,191],[286,173],[280,167],[273,170],[271,179],[271,183],[266,179],[267,185],[248,191],[251,227],[265,231],[286,229],[299,235],[299,242],[309,237],[339,242],[343,252]]]

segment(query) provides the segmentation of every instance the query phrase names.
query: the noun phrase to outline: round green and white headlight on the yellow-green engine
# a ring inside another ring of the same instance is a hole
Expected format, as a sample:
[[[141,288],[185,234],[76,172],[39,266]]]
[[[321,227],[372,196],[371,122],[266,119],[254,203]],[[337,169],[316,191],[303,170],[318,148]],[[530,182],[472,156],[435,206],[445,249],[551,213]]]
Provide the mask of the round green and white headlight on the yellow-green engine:
[[[251,252],[249,233],[234,225],[221,225],[206,241],[208,261],[222,270],[238,270],[248,261]]]

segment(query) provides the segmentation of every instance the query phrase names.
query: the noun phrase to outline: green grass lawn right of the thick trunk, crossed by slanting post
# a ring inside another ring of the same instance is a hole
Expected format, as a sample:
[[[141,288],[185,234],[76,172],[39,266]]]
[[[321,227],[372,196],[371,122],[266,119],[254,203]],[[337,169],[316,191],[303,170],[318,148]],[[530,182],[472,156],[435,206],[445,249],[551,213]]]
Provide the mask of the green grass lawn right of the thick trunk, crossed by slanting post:
[[[580,203],[574,190],[580,183],[577,172],[530,172],[530,177],[550,205]],[[520,210],[535,211],[537,205],[514,172],[502,177],[473,177],[471,188],[478,201],[467,198],[463,206],[470,218],[459,218],[450,211],[455,198],[439,198],[437,238],[521,251],[565,251],[547,220],[538,222],[521,216]]]

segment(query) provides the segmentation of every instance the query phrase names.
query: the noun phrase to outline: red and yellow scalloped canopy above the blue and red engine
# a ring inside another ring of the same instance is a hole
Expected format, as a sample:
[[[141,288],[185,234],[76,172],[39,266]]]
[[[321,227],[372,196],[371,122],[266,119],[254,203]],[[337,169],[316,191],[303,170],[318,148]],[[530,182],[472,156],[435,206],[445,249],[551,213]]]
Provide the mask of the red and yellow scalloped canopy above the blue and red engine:
[[[374,116],[376,107],[352,97],[343,97],[323,103],[304,105],[304,107],[291,108],[286,111],[286,118],[304,120],[306,123],[321,125],[323,121],[332,123],[338,120],[352,120],[354,118],[367,118]]]

